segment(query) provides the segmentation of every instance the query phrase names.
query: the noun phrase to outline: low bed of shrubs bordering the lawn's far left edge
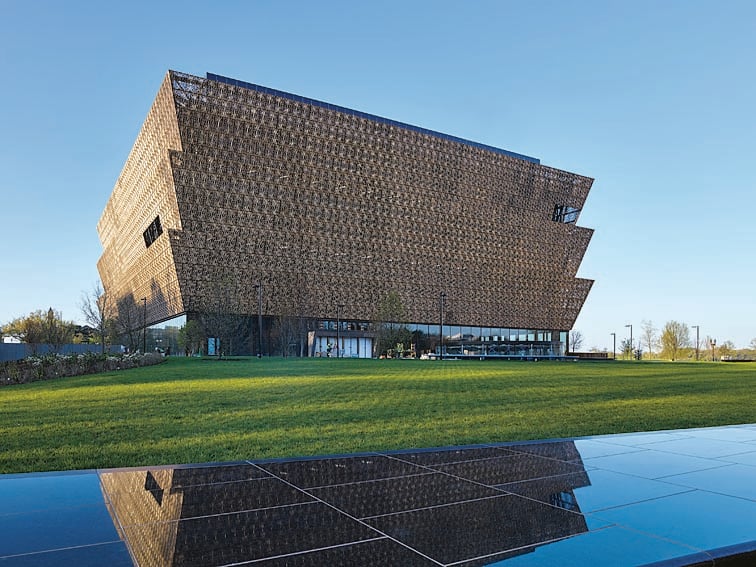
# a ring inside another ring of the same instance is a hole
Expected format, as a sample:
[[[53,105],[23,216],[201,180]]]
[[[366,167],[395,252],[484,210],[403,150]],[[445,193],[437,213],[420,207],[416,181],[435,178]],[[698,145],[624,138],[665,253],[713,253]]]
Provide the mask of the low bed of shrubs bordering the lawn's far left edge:
[[[0,363],[0,386],[138,368],[160,364],[164,360],[165,358],[162,355],[156,353],[103,355],[88,352],[84,354],[30,356],[23,360]]]

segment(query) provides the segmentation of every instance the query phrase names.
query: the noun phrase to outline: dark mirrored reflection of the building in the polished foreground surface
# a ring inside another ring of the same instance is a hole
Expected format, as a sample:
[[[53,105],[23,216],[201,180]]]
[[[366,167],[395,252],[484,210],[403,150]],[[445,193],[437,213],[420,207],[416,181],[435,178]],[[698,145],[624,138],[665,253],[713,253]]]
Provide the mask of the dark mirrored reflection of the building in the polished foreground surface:
[[[400,463],[410,472],[360,482],[344,476],[364,474],[359,463],[349,469],[348,459],[112,471],[101,479],[114,522],[142,567],[230,564],[384,537],[365,524],[408,547],[446,546],[454,560],[468,548],[467,558],[476,550],[489,558],[519,555],[587,531],[575,489],[590,481],[574,443],[512,449],[517,453],[423,468]],[[288,480],[265,468],[287,471],[281,474]],[[321,476],[329,468],[330,480]],[[316,477],[315,488],[297,480]],[[447,533],[438,522],[464,533]]]

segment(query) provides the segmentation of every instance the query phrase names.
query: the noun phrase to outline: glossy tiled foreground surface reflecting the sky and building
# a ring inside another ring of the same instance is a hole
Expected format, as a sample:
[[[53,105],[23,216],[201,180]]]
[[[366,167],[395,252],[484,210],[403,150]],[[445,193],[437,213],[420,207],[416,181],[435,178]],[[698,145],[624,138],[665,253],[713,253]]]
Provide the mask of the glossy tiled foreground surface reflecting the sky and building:
[[[0,475],[0,566],[756,565],[756,425]]]

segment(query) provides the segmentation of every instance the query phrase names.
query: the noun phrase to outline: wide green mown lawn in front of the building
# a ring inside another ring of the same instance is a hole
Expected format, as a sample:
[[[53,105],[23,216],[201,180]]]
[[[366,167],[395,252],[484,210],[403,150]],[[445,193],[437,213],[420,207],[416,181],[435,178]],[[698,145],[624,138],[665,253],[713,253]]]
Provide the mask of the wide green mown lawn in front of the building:
[[[756,422],[756,363],[200,360],[0,389],[0,472]]]

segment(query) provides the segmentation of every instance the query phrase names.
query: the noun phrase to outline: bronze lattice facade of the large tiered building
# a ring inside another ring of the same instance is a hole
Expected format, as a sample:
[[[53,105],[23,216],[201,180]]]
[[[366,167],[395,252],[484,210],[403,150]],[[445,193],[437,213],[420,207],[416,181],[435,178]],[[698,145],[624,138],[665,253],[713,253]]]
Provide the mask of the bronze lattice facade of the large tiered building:
[[[567,331],[592,180],[537,159],[208,75],[169,72],[98,223],[105,289],[154,323],[231,309]],[[256,285],[262,282],[264,300]]]

